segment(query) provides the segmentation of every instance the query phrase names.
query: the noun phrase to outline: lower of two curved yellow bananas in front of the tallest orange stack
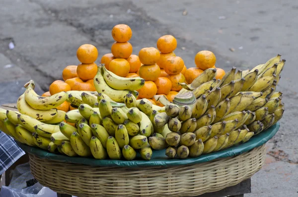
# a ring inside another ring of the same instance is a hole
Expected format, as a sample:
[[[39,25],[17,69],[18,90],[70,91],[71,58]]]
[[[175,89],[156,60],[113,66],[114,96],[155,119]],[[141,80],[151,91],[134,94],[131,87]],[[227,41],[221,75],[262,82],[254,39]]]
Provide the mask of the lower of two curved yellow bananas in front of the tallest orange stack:
[[[104,66],[101,64],[98,66],[97,73],[94,77],[94,87],[97,92],[105,93],[108,97],[110,97],[115,102],[124,102],[124,97],[128,93],[132,93],[135,97],[139,96],[139,92],[137,91],[128,91],[128,90],[115,90],[111,88],[104,80],[102,76],[102,68]],[[121,82],[122,83],[122,82]],[[121,85],[119,84],[119,87]],[[101,113],[100,113],[101,114]]]

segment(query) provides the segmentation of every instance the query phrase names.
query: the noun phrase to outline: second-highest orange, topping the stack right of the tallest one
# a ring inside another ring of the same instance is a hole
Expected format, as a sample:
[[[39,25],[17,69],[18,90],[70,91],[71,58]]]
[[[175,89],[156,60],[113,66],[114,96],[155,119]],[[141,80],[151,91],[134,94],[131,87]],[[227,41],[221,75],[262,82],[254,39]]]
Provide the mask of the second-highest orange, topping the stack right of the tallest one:
[[[172,51],[174,51],[177,47],[177,40],[174,36],[171,35],[165,35],[165,36],[161,36],[158,40],[157,40],[157,49],[163,53],[170,53]]]

